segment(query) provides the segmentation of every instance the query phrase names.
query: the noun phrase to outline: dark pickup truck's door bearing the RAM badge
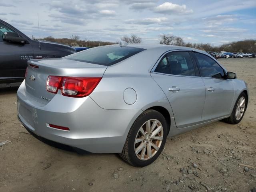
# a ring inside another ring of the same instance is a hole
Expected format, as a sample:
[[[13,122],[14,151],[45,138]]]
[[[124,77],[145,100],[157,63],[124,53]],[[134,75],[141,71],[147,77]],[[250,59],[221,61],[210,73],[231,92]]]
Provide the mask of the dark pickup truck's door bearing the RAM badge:
[[[25,76],[27,61],[34,57],[31,44],[18,44],[4,41],[4,32],[16,32],[0,22],[0,80],[22,79]]]

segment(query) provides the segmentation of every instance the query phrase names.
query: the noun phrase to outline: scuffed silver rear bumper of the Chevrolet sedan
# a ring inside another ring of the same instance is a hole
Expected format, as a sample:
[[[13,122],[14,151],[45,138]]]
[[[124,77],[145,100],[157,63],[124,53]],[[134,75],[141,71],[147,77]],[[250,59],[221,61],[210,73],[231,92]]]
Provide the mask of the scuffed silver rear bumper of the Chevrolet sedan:
[[[130,127],[140,109],[106,110],[90,96],[70,98],[56,94],[48,104],[26,94],[23,82],[17,92],[18,118],[34,134],[92,153],[122,151]],[[51,128],[68,127],[70,131]]]

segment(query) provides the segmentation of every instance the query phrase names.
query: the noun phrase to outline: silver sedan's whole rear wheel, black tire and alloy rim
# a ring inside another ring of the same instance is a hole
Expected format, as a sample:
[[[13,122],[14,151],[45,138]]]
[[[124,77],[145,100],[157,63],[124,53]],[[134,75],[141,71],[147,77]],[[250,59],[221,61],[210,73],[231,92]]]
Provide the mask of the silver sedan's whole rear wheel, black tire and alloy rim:
[[[132,124],[119,155],[132,166],[147,166],[161,154],[166,137],[164,116],[156,110],[146,110]]]

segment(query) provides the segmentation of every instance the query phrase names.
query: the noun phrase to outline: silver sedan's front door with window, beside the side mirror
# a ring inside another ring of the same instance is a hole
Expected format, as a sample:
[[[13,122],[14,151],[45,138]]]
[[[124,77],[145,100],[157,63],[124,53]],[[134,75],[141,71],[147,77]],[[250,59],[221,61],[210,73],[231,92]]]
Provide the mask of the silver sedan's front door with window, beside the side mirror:
[[[202,120],[226,116],[234,99],[234,84],[226,79],[225,70],[209,56],[193,52],[206,89]]]

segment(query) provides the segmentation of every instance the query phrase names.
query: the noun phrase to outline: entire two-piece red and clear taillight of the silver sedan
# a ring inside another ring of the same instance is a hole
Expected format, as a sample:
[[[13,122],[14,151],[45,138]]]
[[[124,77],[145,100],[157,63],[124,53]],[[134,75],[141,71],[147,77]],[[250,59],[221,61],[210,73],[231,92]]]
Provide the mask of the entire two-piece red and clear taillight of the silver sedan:
[[[100,82],[101,77],[60,77],[48,76],[46,90],[61,93],[68,97],[85,97],[92,93]]]

